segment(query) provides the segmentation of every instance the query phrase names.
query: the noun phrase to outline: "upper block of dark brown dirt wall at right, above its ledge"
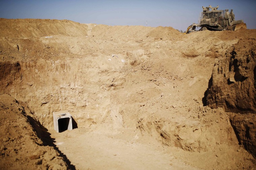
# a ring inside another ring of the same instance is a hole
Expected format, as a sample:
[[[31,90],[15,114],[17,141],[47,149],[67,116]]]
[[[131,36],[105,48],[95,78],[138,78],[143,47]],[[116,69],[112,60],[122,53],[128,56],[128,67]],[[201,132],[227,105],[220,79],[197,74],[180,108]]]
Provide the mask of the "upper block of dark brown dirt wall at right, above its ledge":
[[[208,105],[237,112],[256,111],[255,49],[234,48],[215,64]]]

